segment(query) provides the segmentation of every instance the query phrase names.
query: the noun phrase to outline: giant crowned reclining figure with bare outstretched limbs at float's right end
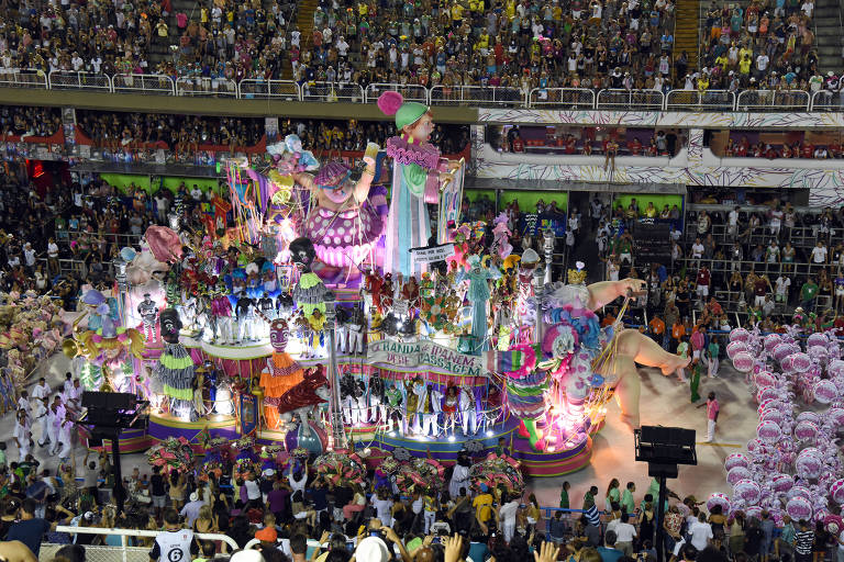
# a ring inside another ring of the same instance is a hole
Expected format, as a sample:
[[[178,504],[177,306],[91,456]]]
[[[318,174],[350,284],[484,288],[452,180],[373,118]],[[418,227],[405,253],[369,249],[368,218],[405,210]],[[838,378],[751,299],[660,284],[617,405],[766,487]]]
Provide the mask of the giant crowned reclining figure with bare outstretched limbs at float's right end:
[[[574,270],[573,270],[574,271]],[[593,389],[613,389],[622,422],[638,427],[641,383],[636,363],[658,367],[669,375],[686,367],[689,359],[665,351],[637,330],[617,324],[600,328],[596,310],[619,296],[637,294],[644,288],[640,279],[603,281],[586,285],[585,272],[569,271],[571,284],[545,285],[537,295],[543,319],[551,324],[542,341],[547,358],[534,369],[532,348],[519,346],[498,353],[498,369],[507,374],[507,395],[511,412],[522,420],[520,435],[534,449],[543,450],[545,440],[538,425],[562,427],[563,439],[589,430],[585,406]]]

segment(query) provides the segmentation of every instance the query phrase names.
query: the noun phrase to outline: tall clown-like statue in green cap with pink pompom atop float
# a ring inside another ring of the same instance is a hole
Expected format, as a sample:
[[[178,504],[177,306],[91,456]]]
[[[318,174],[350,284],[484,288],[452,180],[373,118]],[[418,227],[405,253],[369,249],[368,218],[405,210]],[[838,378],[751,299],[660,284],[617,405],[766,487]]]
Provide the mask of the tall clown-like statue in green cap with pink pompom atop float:
[[[421,276],[422,265],[411,271],[410,249],[427,245],[431,218],[425,204],[438,202],[440,173],[446,171],[447,162],[429,143],[433,122],[427,105],[406,102],[400,93],[389,91],[378,98],[378,108],[396,116],[399,133],[387,140],[387,156],[395,162],[384,270]]]

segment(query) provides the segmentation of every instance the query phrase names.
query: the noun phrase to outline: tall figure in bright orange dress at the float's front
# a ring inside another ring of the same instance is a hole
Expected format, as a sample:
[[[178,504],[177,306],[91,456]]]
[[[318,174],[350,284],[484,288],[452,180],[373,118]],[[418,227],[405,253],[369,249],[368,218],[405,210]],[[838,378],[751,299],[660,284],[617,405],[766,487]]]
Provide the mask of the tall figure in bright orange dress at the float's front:
[[[260,372],[258,384],[264,389],[264,419],[271,429],[277,428],[280,422],[278,404],[281,396],[304,379],[302,368],[286,351],[289,338],[287,322],[278,318],[269,323],[273,355],[267,359],[267,367]]]

